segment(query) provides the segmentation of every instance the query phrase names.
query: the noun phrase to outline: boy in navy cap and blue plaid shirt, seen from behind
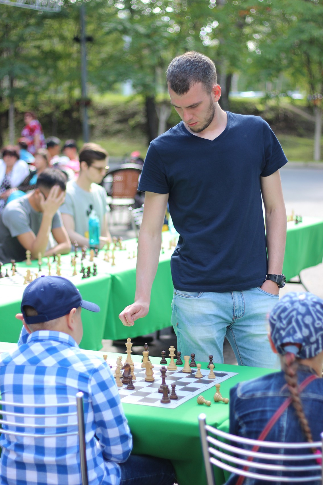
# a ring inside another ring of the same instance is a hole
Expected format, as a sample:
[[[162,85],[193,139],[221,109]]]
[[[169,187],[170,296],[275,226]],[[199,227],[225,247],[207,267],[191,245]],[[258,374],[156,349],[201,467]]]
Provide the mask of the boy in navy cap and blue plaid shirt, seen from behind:
[[[172,485],[175,476],[168,460],[129,457],[132,436],[111,370],[78,347],[82,308],[100,311],[61,276],[42,276],[26,287],[22,313],[16,315],[24,326],[18,349],[0,359],[2,399],[55,408],[57,403],[75,402],[82,391],[89,484]],[[71,437],[48,439],[50,446],[47,440],[2,434],[0,483],[80,485],[77,436],[72,443]]]

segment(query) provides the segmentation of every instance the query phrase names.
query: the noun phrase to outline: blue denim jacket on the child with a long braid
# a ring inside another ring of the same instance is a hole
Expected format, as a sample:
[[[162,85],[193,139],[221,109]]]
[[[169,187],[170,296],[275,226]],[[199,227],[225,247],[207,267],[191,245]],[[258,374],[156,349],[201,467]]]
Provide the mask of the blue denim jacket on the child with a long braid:
[[[314,373],[308,366],[299,365],[298,383],[306,379],[310,373]],[[275,414],[279,406],[290,396],[286,386],[284,372],[275,372],[265,375],[258,379],[243,382],[230,391],[230,433],[232,435],[244,436],[247,438],[258,439],[263,428],[271,417]],[[314,379],[301,392],[301,401],[305,416],[308,419],[309,428],[312,433],[313,441],[320,441],[320,433],[323,431],[323,379]],[[265,441],[277,442],[304,442],[307,441],[300,427],[295,409],[292,404],[282,413],[280,418],[269,431]],[[269,452],[269,449],[260,448],[259,451]],[[272,453],[283,453],[283,450],[272,449]],[[285,452],[286,453],[286,452]],[[289,454],[296,454],[288,450]],[[298,452],[299,453],[299,452]],[[304,450],[301,453],[305,454]],[[312,453],[308,451],[308,453]],[[242,456],[242,458],[245,458]],[[275,463],[271,461],[270,463]],[[277,462],[276,462],[277,463]],[[279,462],[281,464],[282,462]],[[297,462],[296,462],[297,463]],[[291,464],[291,462],[289,463]],[[294,462],[295,464],[295,462]],[[316,465],[313,460],[306,464]],[[277,472],[279,474],[280,472]],[[314,471],[314,475],[319,475],[319,471]],[[308,475],[308,472],[307,472]],[[236,483],[237,476],[231,475],[228,485]],[[244,485],[268,484],[261,480],[245,478]],[[277,485],[280,482],[275,482]],[[314,485],[319,482],[310,482]],[[290,482],[292,484],[292,480]]]

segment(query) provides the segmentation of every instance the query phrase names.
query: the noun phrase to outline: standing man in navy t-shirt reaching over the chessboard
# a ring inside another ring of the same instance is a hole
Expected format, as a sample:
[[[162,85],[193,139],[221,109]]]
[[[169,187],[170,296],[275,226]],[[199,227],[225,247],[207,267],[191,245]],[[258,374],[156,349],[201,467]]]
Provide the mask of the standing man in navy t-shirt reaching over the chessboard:
[[[226,337],[238,364],[273,367],[266,315],[285,283],[279,168],[287,159],[261,117],[220,108],[221,88],[208,57],[197,52],[176,57],[167,81],[182,121],[147,152],[139,183],[146,194],[135,303],[120,319],[133,325],[148,313],[169,202],[180,234],[170,263],[178,350],[194,352],[200,361],[212,354],[222,363]]]

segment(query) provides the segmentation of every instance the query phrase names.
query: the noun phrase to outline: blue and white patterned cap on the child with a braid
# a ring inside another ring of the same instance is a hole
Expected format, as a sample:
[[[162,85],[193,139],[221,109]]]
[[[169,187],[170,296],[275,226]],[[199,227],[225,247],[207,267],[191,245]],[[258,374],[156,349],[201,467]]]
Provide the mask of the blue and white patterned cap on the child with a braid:
[[[312,293],[287,293],[269,317],[271,338],[279,354],[308,359],[323,350],[323,300]],[[288,347],[282,344],[290,343]],[[300,344],[301,348],[296,345]]]

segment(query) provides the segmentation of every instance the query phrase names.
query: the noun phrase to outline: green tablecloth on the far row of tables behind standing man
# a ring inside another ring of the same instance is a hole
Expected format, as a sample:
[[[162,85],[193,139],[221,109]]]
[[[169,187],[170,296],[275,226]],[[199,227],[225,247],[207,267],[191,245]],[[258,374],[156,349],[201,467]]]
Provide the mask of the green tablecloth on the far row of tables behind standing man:
[[[124,327],[119,320],[119,313],[133,302],[136,283],[136,240],[124,241],[126,249],[116,249],[115,266],[104,261],[104,252],[100,251],[96,259],[97,276],[81,279],[79,275],[72,276],[70,256],[62,256],[62,276],[71,280],[80,289],[84,299],[89,299],[101,307],[99,320],[93,320],[90,312],[82,313],[84,337],[81,347],[100,349],[101,339],[126,339],[146,335],[170,325],[173,286],[170,274],[169,260],[173,248],[169,248],[170,234],[163,233],[163,250],[160,255],[157,275],[152,288],[149,314],[138,320],[133,327]],[[110,251],[111,254],[111,251]],[[318,218],[303,218],[303,222],[295,225],[287,224],[287,241],[283,273],[287,280],[308,267],[322,262],[323,258],[323,220]],[[46,258],[44,258],[44,261]],[[78,263],[78,271],[79,271]],[[45,266],[45,265],[44,265]],[[10,268],[11,265],[5,265]],[[17,263],[24,272],[29,267],[25,263]],[[37,268],[33,261],[32,267]],[[45,274],[46,268],[43,268]],[[52,274],[56,271],[52,264]],[[10,271],[9,271],[10,272]],[[11,273],[11,272],[10,272]],[[14,281],[14,277],[11,278]],[[20,311],[20,300],[24,286],[14,283],[7,284],[7,278],[0,280],[0,339],[15,342],[20,331],[20,323],[15,321],[15,313]],[[94,323],[94,321],[96,323]]]

